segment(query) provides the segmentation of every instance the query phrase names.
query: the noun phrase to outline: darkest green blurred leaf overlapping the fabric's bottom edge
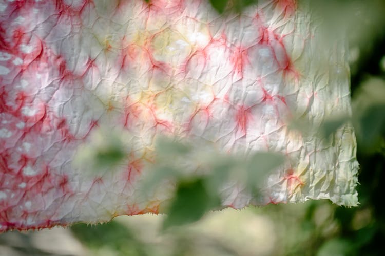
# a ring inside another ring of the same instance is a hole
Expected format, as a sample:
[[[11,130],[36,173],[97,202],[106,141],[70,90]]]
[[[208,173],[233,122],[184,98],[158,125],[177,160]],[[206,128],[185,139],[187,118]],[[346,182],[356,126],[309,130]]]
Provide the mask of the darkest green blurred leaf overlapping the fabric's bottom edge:
[[[205,212],[218,206],[219,196],[207,190],[202,178],[182,181],[178,184],[163,229],[196,222]]]

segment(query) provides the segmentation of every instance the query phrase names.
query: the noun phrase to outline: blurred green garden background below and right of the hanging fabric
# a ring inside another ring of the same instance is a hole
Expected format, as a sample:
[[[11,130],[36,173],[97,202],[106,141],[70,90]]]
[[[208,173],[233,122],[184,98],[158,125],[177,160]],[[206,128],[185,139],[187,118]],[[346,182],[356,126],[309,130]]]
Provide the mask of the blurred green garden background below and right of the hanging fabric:
[[[210,2],[220,10],[221,1]],[[385,1],[312,0],[311,6],[349,38],[359,207],[319,200],[226,209],[165,232],[162,215],[121,216],[95,226],[3,233],[0,255],[383,255]]]

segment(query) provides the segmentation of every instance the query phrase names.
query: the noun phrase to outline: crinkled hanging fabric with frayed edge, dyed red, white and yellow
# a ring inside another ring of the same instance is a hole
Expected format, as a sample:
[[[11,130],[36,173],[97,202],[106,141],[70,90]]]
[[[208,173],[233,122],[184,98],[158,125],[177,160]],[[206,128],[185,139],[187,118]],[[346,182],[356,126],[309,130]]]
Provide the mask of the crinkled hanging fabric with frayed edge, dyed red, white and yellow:
[[[169,194],[138,181],[161,135],[287,157],[259,198],[226,183],[223,206],[357,205],[353,128],[288,129],[350,113],[345,46],[317,22],[293,0],[226,15],[203,0],[0,2],[0,231],[158,212]],[[79,156],[114,132],[124,160],[92,175]]]

